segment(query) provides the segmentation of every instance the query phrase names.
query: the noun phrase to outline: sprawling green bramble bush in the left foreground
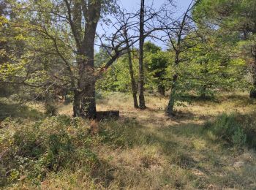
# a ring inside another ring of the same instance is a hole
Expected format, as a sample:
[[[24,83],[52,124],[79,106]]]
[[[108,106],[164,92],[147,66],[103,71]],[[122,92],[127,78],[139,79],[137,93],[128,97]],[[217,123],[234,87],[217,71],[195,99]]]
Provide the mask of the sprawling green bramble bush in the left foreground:
[[[92,151],[89,124],[65,115],[37,122],[12,121],[0,127],[0,186],[25,178],[39,184],[50,171],[92,170],[99,162]]]

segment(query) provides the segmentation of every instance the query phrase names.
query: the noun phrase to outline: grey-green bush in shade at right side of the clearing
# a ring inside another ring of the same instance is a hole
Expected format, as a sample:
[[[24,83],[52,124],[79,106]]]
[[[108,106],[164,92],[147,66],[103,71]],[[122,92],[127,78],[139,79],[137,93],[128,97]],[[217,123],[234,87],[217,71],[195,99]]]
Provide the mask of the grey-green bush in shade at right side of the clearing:
[[[235,114],[222,114],[213,122],[207,122],[205,128],[211,130],[219,139],[229,142],[231,145],[241,147],[246,144],[246,134],[243,125]]]

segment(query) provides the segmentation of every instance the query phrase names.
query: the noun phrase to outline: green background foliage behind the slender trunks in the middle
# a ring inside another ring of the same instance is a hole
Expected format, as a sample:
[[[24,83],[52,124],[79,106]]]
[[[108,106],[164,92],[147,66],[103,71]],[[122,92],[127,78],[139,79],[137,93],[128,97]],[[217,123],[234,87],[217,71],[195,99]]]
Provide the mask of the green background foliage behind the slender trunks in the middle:
[[[160,47],[152,42],[145,43],[145,88],[157,89],[159,86],[168,88],[167,78],[170,73],[167,72],[167,66],[170,64],[170,53],[164,52]],[[96,54],[96,64],[105,63],[105,52],[99,50]],[[113,66],[108,69],[102,80],[97,82],[97,88],[104,91],[131,91],[131,82],[129,76],[128,56],[124,55],[118,58]],[[135,76],[135,82],[138,83],[138,50],[132,50],[132,66]]]

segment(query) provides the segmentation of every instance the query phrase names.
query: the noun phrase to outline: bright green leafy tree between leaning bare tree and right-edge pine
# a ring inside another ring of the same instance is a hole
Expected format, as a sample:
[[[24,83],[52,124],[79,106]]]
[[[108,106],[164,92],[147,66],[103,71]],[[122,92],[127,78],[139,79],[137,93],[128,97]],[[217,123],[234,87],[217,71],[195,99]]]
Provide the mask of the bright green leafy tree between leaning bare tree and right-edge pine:
[[[219,89],[244,85],[245,63],[235,56],[236,50],[232,45],[214,33],[197,39],[197,44],[186,53],[189,61],[181,64],[181,83],[186,85],[187,91],[195,91],[206,99]]]

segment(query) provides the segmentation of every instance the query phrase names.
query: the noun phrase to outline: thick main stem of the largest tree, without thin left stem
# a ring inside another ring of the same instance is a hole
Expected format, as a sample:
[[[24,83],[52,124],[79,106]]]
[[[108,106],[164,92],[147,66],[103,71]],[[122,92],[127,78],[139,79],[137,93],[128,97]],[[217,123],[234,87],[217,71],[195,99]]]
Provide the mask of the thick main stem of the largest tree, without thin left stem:
[[[95,83],[96,77],[94,72],[94,40],[96,28],[99,22],[101,1],[92,1],[87,8],[86,28],[84,39],[81,45],[80,53],[83,61],[79,64],[79,81],[80,90],[80,115],[86,118],[96,118],[96,100],[95,100]]]

